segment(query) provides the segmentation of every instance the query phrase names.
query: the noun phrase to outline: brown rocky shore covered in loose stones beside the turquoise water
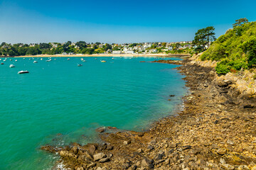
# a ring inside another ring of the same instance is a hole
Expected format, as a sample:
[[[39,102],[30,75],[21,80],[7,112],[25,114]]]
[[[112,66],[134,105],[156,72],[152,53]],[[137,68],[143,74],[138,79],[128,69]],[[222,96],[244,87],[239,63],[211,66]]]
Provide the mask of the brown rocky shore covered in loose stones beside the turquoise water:
[[[256,170],[255,98],[240,95],[233,80],[218,79],[213,67],[191,60],[156,62],[181,64],[177,69],[191,91],[183,111],[146,132],[99,128],[102,144],[41,149],[58,153],[65,169]]]

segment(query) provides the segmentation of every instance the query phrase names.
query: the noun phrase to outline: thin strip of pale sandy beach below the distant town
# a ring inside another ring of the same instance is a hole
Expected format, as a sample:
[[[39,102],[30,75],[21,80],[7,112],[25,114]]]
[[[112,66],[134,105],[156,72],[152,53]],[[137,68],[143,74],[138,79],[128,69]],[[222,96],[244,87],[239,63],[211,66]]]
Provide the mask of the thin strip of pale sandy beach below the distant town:
[[[131,55],[113,55],[113,54],[104,54],[104,55],[23,55],[16,56],[17,58],[21,57],[187,57],[186,54],[131,54]]]

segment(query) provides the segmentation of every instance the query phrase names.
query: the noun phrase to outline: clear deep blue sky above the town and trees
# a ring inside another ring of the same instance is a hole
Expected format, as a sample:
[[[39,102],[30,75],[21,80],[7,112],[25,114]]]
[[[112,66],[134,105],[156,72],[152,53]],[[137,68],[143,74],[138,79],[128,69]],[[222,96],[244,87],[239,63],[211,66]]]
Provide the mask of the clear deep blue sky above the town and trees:
[[[255,0],[0,0],[0,42],[174,42],[238,18],[256,21]]]

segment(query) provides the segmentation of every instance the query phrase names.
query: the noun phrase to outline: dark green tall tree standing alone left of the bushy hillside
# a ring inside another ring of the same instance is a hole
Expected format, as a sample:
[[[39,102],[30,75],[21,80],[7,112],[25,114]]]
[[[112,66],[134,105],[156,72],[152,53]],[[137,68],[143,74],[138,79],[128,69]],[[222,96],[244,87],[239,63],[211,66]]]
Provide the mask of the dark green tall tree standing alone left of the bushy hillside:
[[[199,48],[206,50],[206,45],[210,46],[210,42],[215,41],[215,33],[213,32],[215,28],[209,26],[203,29],[200,29],[196,32],[196,36],[193,40],[193,44],[197,45]]]

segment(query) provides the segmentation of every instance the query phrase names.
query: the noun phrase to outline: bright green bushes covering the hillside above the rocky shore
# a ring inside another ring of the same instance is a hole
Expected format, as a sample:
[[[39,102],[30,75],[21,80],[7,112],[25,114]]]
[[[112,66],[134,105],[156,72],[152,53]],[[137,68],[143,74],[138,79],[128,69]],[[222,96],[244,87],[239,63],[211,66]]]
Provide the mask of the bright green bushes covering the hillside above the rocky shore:
[[[201,55],[201,60],[218,61],[218,74],[256,67],[256,22],[241,18],[233,26]]]

